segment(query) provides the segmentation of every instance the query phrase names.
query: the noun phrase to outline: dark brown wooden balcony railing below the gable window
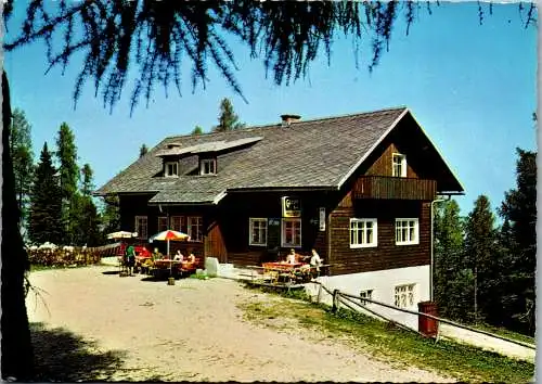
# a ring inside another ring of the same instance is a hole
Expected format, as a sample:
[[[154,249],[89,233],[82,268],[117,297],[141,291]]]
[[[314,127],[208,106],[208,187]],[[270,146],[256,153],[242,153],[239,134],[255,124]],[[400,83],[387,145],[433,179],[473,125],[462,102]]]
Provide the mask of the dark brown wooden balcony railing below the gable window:
[[[402,177],[363,176],[353,185],[354,199],[434,200],[437,181]]]

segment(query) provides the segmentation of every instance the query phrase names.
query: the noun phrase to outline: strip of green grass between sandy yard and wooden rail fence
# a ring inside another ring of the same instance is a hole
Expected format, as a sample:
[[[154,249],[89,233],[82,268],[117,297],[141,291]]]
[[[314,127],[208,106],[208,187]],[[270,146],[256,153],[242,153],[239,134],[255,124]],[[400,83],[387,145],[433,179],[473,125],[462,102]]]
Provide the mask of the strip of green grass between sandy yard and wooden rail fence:
[[[324,337],[340,340],[377,359],[391,358],[459,381],[527,383],[532,382],[534,374],[531,362],[451,341],[435,343],[431,338],[390,328],[385,322],[346,309],[332,313],[328,307],[293,298],[245,303],[241,308],[245,318],[253,322],[272,328],[319,331]],[[276,322],[276,319],[282,321]]]

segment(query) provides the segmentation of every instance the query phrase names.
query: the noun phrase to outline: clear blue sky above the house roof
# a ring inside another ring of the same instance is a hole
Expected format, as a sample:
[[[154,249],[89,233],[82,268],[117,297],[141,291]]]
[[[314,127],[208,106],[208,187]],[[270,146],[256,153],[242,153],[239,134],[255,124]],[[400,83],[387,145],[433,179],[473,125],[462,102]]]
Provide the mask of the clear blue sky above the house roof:
[[[15,3],[8,37],[23,16],[23,3]],[[457,199],[463,215],[480,194],[499,206],[504,192],[515,187],[516,146],[537,148],[531,120],[537,108],[537,30],[524,28],[517,4],[495,4],[480,26],[476,3],[442,3],[433,7],[433,15],[424,9],[409,36],[400,17],[389,52],[373,74],[366,69],[370,52],[362,52],[356,68],[351,43],[340,40],[333,46],[331,66],[322,55],[306,79],[278,87],[266,79],[262,61],[250,61],[244,48],[234,50],[248,104],[212,69],[207,88],[192,93],[186,71],[182,98],[171,89],[166,99],[157,88],[149,108],[141,103],[131,118],[131,84],[113,114],[94,99],[91,84],[74,111],[80,62],[74,60],[64,76],[60,68],[44,75],[41,43],[7,53],[5,66],[13,106],[24,110],[33,126],[36,157],[46,140],[53,145],[61,123],[67,121],[79,164],[91,165],[96,187],[136,161],[142,143],[154,146],[196,125],[208,131],[217,124],[224,97],[248,125],[279,123],[283,113],[317,118],[408,105],[463,183],[466,194]]]

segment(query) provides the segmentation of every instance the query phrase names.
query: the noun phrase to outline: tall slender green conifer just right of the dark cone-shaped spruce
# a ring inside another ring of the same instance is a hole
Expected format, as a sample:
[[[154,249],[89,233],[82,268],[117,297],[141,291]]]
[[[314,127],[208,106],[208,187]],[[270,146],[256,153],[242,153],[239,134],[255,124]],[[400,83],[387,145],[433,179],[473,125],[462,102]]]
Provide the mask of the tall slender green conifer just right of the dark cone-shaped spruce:
[[[76,204],[79,167],[77,166],[77,146],[75,136],[66,123],[62,123],[56,137],[56,157],[59,159],[60,183],[62,191],[63,243],[72,244],[76,232]]]

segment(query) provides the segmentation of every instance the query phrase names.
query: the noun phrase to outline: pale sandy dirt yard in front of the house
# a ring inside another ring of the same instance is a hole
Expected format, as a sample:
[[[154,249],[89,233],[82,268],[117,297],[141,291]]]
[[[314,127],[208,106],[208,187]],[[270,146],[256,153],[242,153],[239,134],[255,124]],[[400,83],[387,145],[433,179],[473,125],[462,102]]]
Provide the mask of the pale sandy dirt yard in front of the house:
[[[282,298],[245,290],[233,280],[183,279],[171,286],[165,281],[146,281],[142,276],[119,278],[114,272],[115,267],[100,266],[30,274],[31,283],[44,291],[47,304],[36,294],[28,295],[30,322],[56,330],[56,336],[69,332],[82,337],[93,354],[86,363],[95,363],[103,371],[81,379],[449,381],[434,372],[400,368],[397,361],[376,360],[338,341],[318,342],[301,332],[247,322],[237,307],[240,303],[262,296]],[[55,343],[52,340],[36,340],[38,354],[47,355],[41,357],[42,364],[56,363],[57,356],[66,363],[66,354],[74,355],[74,350],[61,350],[62,344],[47,348],[47,344]],[[65,345],[76,349],[73,343]],[[78,351],[77,359],[80,356]],[[118,363],[107,370],[107,358],[109,366]]]

